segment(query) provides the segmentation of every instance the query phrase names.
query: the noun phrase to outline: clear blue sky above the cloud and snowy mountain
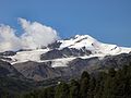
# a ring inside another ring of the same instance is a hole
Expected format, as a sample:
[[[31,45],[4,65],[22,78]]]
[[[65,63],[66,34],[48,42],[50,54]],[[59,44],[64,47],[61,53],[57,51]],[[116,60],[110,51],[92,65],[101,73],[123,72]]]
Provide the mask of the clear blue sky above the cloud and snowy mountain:
[[[17,17],[51,26],[62,38],[87,34],[131,47],[131,0],[0,0],[0,24],[21,33]]]

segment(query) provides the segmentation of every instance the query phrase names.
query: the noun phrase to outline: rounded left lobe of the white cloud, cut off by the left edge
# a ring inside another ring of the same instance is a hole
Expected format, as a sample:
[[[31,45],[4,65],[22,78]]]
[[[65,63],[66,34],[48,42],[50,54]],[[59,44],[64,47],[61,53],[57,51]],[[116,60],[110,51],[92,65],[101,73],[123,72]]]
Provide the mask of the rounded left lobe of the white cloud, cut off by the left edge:
[[[0,25],[0,52],[20,49],[21,40],[15,30],[8,25]]]

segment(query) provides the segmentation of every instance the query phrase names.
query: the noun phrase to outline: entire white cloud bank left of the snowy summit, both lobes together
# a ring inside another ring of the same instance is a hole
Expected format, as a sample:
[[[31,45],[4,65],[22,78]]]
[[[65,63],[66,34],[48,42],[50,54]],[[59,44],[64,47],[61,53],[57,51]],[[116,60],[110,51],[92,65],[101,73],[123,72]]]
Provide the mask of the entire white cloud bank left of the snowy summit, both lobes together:
[[[51,27],[37,22],[28,22],[25,19],[19,19],[24,30],[22,36],[17,37],[15,30],[7,25],[0,26],[0,52],[19,49],[37,49],[46,47],[56,41],[59,37]]]

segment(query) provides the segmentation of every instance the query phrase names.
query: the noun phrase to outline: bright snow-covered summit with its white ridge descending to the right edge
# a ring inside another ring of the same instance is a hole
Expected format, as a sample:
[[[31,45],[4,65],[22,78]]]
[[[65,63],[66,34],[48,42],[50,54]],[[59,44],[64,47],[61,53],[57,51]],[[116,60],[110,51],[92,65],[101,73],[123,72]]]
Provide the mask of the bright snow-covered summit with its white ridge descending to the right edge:
[[[91,50],[93,53],[119,54],[122,52],[131,51],[131,48],[123,48],[123,47],[118,47],[117,45],[100,42],[90,35],[76,35],[74,38],[67,39],[67,40],[60,40],[60,42],[61,42],[61,45],[60,45],[59,49],[85,48],[87,50]]]

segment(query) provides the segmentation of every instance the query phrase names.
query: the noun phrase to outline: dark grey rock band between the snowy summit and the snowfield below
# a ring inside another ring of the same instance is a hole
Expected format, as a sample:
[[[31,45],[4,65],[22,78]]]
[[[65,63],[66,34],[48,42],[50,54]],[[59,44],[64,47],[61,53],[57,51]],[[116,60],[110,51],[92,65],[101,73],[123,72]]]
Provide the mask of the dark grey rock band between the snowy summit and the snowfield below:
[[[86,49],[63,48],[62,50],[53,49],[40,56],[40,60],[60,59],[67,57],[90,56],[92,52]]]

